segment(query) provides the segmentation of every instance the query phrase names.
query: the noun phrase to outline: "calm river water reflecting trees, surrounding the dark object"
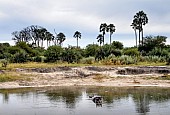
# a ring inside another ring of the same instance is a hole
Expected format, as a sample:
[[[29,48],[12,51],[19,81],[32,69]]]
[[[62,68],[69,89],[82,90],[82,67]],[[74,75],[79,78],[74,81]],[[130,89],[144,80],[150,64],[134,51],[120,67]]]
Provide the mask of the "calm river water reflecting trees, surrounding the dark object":
[[[97,106],[91,95],[103,97]],[[170,88],[48,87],[0,90],[0,115],[170,115]]]

